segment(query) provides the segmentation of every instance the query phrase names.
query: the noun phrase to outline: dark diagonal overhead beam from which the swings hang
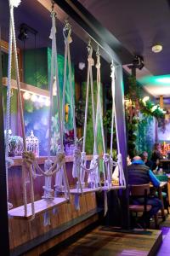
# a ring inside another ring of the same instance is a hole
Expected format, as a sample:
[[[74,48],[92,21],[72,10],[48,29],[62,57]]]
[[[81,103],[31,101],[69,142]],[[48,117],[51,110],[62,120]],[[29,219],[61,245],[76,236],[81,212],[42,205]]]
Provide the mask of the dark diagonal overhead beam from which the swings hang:
[[[37,2],[51,11],[50,0],[37,0]],[[88,38],[93,38],[93,48],[96,49],[99,44],[100,53],[105,61],[114,60],[116,64],[123,65],[132,62],[133,55],[81,3],[75,0],[54,0],[54,2],[57,4],[54,5],[54,10],[58,19],[62,22],[69,20],[73,32],[84,42],[88,43]]]

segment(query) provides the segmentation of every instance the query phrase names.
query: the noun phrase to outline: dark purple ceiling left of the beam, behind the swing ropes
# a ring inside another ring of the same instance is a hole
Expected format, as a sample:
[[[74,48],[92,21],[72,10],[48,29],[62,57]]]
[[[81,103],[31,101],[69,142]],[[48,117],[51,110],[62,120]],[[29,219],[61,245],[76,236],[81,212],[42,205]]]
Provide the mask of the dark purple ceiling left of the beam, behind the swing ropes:
[[[8,42],[8,24],[9,24],[9,8],[7,0],[0,0],[0,26],[2,31],[2,39]],[[51,40],[49,34],[51,30],[51,18],[47,9],[42,7],[42,4],[35,0],[22,0],[20,6],[14,9],[14,21],[16,37],[20,32],[20,24],[26,23],[37,31],[37,44],[35,45],[35,36],[28,32],[28,39],[25,43],[25,49],[51,47]],[[57,20],[57,48],[58,52],[64,55],[64,38],[63,38],[63,23]],[[81,38],[78,38],[74,33],[74,27],[72,27],[72,39],[71,44],[71,61],[78,65],[79,62],[87,63],[87,44],[85,44]],[[17,38],[17,46],[20,49],[24,48],[24,43]],[[110,82],[110,72],[108,74],[109,64],[102,61],[102,77],[105,83]],[[81,72],[77,69],[77,76],[83,80],[86,77],[86,70]]]

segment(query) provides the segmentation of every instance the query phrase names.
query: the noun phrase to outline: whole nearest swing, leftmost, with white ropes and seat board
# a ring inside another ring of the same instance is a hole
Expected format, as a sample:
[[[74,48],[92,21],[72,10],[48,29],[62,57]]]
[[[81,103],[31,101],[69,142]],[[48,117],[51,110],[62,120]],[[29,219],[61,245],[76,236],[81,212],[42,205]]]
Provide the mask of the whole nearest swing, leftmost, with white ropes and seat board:
[[[44,222],[47,222],[47,213],[48,210],[59,206],[70,200],[70,189],[68,184],[68,179],[66,176],[65,170],[65,154],[63,147],[63,131],[61,124],[61,116],[59,110],[59,79],[58,79],[58,63],[57,63],[57,49],[56,49],[56,27],[55,27],[55,13],[54,13],[54,3],[52,5],[52,30],[50,38],[52,39],[52,59],[51,59],[51,79],[50,79],[50,109],[48,114],[48,160],[45,160],[44,170],[41,169],[37,164],[37,160],[35,155],[32,152],[26,152],[26,134],[25,134],[25,124],[24,124],[24,115],[23,108],[21,102],[21,94],[20,94],[20,77],[19,77],[19,67],[18,67],[18,59],[17,59],[17,51],[16,51],[16,40],[15,40],[15,31],[14,31],[14,7],[18,7],[20,4],[20,0],[18,3],[13,3],[12,0],[9,1],[9,9],[10,9],[10,26],[9,26],[9,55],[8,55],[8,65],[9,65],[9,76],[8,76],[8,91],[10,91],[11,87],[11,54],[12,54],[12,41],[14,44],[14,64],[16,70],[16,80],[17,87],[19,93],[19,104],[20,104],[20,119],[21,119],[21,127],[23,134],[23,144],[24,144],[24,152],[23,152],[23,162],[22,162],[22,178],[23,178],[23,195],[24,195],[24,206],[16,207],[12,210],[8,211],[8,216],[12,218],[25,218],[25,219],[33,219],[36,214],[45,212],[44,214]],[[52,106],[53,106],[53,85],[54,85],[54,77],[56,78],[56,88],[57,88],[57,103],[59,110],[59,137],[60,137],[60,150],[57,152],[54,164],[52,160],[50,160],[50,143],[51,143],[51,118],[52,118]],[[8,94],[8,97],[10,94]],[[9,100],[8,100],[9,102]],[[9,105],[9,104],[8,104]],[[8,107],[9,109],[9,107]],[[8,110],[9,112],[9,110]],[[7,118],[9,115],[7,116]],[[8,132],[7,132],[8,134]],[[7,141],[8,142],[8,141]],[[8,144],[6,142],[6,148],[8,149]],[[6,149],[6,150],[7,150]],[[52,195],[53,189],[51,189],[51,178],[52,176],[59,172],[62,169],[62,178],[65,184],[65,197],[54,197]],[[45,177],[45,185],[43,186],[44,195],[42,199],[39,201],[34,201],[34,188],[33,188],[33,178],[37,177],[40,172],[41,175]],[[27,195],[26,195],[26,175],[29,175],[29,182],[31,184],[31,203],[27,203]],[[46,218],[46,219],[45,219]],[[48,221],[49,222],[49,221]]]

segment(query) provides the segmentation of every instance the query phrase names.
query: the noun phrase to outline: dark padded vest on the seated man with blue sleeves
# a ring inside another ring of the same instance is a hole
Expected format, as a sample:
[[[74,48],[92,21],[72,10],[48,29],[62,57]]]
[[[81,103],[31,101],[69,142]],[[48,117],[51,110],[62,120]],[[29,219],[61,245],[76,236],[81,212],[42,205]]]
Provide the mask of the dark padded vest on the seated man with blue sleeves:
[[[150,168],[145,165],[132,164],[127,166],[129,185],[140,185],[150,183]]]

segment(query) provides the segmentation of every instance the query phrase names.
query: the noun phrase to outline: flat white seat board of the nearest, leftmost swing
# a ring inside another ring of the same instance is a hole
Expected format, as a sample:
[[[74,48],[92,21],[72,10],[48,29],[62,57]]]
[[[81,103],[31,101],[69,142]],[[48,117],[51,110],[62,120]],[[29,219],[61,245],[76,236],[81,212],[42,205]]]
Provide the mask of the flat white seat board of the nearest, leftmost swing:
[[[41,199],[34,202],[35,207],[35,215],[40,214],[42,212],[46,212],[48,210],[53,209],[54,207],[58,207],[64,203],[68,202],[63,197],[54,197],[53,200],[45,200]],[[22,218],[22,219],[30,219],[32,217],[31,212],[31,203],[27,204],[27,215],[25,216],[25,208],[24,206],[16,207],[8,211],[9,218]]]

